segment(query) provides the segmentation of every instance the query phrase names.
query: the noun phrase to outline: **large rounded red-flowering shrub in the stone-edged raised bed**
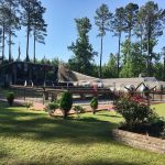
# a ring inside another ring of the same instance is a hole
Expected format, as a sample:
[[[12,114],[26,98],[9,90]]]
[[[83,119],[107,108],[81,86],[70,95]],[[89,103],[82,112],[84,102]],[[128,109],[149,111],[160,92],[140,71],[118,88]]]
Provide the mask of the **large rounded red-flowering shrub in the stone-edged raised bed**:
[[[131,98],[121,98],[114,105],[116,111],[124,118],[130,129],[148,123],[156,116],[147,105]]]

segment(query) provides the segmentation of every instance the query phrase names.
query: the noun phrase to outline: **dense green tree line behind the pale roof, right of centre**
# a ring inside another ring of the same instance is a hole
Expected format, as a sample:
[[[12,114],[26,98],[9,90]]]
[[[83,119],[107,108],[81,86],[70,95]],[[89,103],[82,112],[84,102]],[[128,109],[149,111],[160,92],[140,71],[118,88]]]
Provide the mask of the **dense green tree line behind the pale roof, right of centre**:
[[[95,24],[100,37],[100,64],[94,64],[98,55],[89,43],[90,20],[75,19],[78,38],[68,46],[74,53],[68,66],[84,74],[110,77],[155,76],[165,79],[165,46],[160,53],[154,48],[158,37],[164,34],[165,9],[160,9],[154,1],[139,7],[129,3],[110,12],[107,4],[101,4],[95,13]],[[118,37],[117,54],[110,54],[110,59],[102,66],[103,36],[111,32]]]

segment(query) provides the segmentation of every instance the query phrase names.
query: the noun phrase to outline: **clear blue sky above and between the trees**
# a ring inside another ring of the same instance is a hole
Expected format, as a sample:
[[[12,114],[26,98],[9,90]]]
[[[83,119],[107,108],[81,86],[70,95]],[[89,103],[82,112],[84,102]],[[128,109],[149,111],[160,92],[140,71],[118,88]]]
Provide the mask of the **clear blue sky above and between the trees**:
[[[114,13],[117,8],[125,7],[128,3],[138,3],[140,7],[144,6],[147,0],[41,0],[46,8],[44,14],[47,23],[47,36],[45,45],[36,44],[36,57],[54,58],[67,62],[73,56],[73,52],[68,51],[67,46],[77,38],[76,23],[74,19],[87,16],[90,19],[92,29],[89,32],[89,41],[94,51],[100,52],[100,38],[97,37],[98,28],[95,25],[95,13],[102,3],[108,4],[109,10]],[[158,7],[165,9],[165,0],[154,0]],[[103,40],[103,57],[102,63],[109,61],[110,53],[118,52],[118,38],[108,32]],[[164,45],[165,34],[161,36],[155,52],[161,52]],[[18,33],[14,38],[15,44],[12,48],[13,57],[18,57],[19,45],[21,47],[21,57],[25,58],[25,30]],[[8,54],[8,53],[7,53]],[[30,40],[30,58],[33,58],[33,40]],[[99,63],[99,56],[95,57],[95,63]]]

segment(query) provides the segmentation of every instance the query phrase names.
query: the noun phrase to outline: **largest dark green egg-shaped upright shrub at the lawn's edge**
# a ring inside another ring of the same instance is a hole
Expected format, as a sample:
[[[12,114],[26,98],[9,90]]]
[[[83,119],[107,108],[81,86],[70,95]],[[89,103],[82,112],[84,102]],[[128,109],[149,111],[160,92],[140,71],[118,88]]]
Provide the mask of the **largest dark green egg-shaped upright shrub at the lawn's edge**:
[[[62,98],[59,100],[59,108],[62,109],[62,112],[64,114],[64,119],[67,118],[69,110],[73,107],[73,95],[69,91],[65,91],[62,95]]]

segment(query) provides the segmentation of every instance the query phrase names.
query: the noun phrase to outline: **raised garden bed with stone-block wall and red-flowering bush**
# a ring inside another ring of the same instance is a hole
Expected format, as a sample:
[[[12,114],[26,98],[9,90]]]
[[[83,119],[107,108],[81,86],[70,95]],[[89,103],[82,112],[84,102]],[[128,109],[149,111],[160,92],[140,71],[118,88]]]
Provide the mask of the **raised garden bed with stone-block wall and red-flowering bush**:
[[[118,129],[112,130],[114,140],[131,146],[165,153],[165,119],[141,97],[121,98],[116,111],[124,118]]]

